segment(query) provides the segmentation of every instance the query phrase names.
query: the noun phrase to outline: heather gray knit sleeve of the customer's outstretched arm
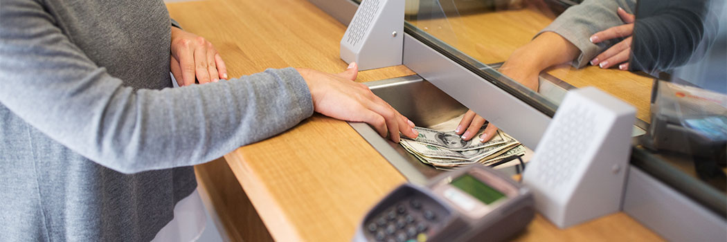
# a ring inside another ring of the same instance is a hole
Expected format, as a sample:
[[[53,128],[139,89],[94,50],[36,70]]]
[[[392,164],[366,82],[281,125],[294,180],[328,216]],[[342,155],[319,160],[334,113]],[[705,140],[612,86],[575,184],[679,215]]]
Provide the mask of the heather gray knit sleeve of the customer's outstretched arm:
[[[89,60],[41,6],[12,3],[0,10],[0,103],[116,171],[201,164],[313,113],[308,86],[293,68],[134,92]]]

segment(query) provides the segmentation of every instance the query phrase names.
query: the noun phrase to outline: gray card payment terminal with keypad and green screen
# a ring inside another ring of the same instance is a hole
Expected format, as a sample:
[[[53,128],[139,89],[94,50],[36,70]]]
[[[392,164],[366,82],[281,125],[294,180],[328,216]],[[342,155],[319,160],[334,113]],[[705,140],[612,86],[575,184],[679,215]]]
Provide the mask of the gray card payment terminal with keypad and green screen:
[[[502,241],[534,217],[526,187],[481,165],[405,183],[374,206],[353,241]]]

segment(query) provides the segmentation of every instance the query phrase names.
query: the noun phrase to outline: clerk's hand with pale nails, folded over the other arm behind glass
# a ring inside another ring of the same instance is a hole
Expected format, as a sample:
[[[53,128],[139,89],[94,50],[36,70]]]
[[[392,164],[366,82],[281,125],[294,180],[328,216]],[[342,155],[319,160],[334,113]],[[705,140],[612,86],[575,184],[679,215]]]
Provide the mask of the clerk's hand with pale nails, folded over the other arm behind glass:
[[[620,8],[616,11],[619,13],[619,17],[624,21],[624,25],[608,28],[605,31],[601,31],[590,36],[590,41],[593,44],[601,43],[608,39],[624,38],[626,39],[614,44],[611,48],[606,49],[601,55],[596,56],[590,61],[591,65],[598,65],[601,68],[611,68],[611,66],[619,65],[619,69],[628,70],[629,55],[631,55],[631,35],[634,31],[634,20],[636,17],[627,13],[624,9]]]

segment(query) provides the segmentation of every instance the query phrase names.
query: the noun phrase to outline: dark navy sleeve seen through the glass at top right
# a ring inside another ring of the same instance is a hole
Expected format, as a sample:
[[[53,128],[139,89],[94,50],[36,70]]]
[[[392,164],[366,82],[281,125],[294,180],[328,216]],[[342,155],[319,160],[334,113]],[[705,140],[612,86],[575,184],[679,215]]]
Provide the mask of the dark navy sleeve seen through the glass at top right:
[[[710,47],[718,39],[719,29],[725,28],[719,23],[719,17],[725,15],[724,5],[724,0],[639,0],[639,17],[632,31],[638,38],[631,44],[629,69],[655,75],[699,61],[708,52],[719,52]]]

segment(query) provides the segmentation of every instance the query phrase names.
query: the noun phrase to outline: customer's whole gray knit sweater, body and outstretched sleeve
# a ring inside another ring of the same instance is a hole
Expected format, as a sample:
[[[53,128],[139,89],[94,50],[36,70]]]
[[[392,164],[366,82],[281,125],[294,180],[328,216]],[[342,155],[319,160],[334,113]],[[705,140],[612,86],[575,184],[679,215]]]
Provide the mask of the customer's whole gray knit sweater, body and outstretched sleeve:
[[[0,1],[0,241],[149,241],[201,164],[313,113],[292,68],[166,88],[161,0]]]

